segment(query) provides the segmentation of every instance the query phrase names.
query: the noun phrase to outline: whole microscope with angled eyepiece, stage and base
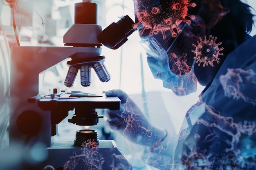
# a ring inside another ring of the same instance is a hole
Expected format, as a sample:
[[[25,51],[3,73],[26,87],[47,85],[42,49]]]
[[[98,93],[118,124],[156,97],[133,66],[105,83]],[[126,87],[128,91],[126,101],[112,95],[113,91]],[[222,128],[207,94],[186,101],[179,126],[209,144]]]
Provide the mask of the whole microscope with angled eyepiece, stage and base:
[[[64,46],[11,48],[9,146],[43,146],[47,158],[36,165],[38,170],[47,166],[55,170],[132,169],[115,141],[99,140],[97,130],[77,130],[73,141],[54,141],[58,124],[70,111],[74,112],[68,119],[71,124],[94,126],[103,117],[97,114],[97,108],[120,107],[117,97],[67,93],[58,87],[49,91],[43,86],[45,71],[63,61],[69,66],[64,82],[68,88],[79,70],[84,87],[91,85],[92,69],[101,82],[110,80],[101,46],[118,49],[135,31],[134,22],[126,15],[102,30],[97,24],[97,8],[98,4],[90,0],[75,4],[75,22],[63,36]]]

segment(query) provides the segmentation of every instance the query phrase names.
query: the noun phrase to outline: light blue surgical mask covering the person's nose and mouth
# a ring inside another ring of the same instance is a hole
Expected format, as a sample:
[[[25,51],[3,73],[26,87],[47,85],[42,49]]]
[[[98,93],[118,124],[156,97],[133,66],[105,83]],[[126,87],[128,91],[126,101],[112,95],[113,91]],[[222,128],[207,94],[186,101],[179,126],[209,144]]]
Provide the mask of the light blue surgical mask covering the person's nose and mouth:
[[[196,91],[197,78],[194,74],[194,64],[189,72],[183,75],[176,75],[170,69],[168,54],[165,50],[158,57],[148,54],[148,66],[156,79],[163,81],[163,86],[173,90],[176,95],[188,95]]]

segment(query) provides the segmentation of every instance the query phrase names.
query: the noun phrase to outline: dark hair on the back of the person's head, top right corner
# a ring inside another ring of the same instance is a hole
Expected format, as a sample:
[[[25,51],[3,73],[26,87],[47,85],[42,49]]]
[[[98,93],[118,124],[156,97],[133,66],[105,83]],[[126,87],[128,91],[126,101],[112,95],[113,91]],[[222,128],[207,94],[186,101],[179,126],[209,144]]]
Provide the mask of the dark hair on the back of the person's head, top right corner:
[[[194,0],[194,2],[197,7],[190,8],[189,12],[204,19],[206,26],[208,24],[207,35],[215,36],[222,42],[222,46],[225,46],[224,53],[233,51],[252,31],[254,14],[251,10],[253,9],[241,0]],[[217,17],[212,17],[214,14],[209,11],[212,6],[215,6],[217,14],[219,12],[217,23],[214,23]],[[221,12],[225,14],[223,17]],[[214,24],[211,25],[212,23]]]

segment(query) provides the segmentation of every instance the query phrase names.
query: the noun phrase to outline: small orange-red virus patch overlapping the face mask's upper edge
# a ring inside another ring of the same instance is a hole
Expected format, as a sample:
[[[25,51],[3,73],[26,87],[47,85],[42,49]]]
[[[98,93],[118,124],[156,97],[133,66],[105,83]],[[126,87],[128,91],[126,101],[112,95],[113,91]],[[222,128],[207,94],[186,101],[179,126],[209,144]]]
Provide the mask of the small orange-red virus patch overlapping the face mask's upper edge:
[[[186,64],[187,57],[186,53],[183,53],[182,56],[171,53],[169,56],[169,62],[171,65],[171,71],[176,75],[184,75],[188,73],[191,68]]]

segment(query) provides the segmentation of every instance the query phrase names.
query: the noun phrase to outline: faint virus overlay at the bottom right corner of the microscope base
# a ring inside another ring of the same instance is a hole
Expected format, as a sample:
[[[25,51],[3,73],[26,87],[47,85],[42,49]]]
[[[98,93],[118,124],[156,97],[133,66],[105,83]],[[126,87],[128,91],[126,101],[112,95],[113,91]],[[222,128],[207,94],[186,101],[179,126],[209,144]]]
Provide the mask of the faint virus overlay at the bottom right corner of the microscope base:
[[[126,160],[126,158],[123,155],[116,155],[112,154],[112,164],[110,167],[112,170],[130,170],[132,169],[132,166],[130,163]]]

